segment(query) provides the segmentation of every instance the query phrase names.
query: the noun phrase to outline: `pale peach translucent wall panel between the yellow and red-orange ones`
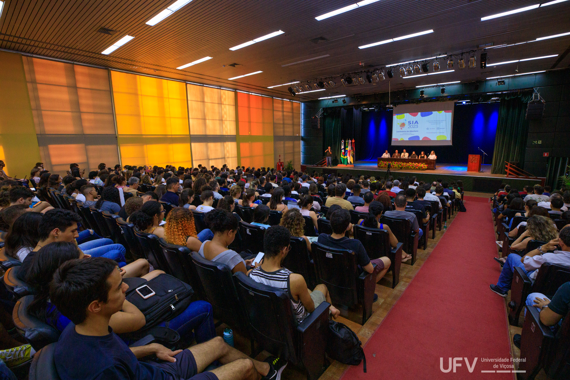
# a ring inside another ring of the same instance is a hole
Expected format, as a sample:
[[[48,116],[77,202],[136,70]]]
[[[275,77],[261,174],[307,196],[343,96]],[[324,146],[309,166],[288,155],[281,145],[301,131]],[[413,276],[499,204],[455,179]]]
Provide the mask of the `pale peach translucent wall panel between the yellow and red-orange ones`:
[[[238,159],[234,91],[196,84],[186,84],[186,91],[194,167],[235,167]]]

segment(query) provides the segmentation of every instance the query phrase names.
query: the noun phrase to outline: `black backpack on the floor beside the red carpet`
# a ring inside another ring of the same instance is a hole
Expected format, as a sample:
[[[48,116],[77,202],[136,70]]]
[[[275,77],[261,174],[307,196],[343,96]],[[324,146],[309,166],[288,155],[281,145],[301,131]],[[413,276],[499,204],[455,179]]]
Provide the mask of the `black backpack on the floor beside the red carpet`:
[[[366,373],[366,357],[362,342],[347,325],[330,320],[328,322],[327,355],[344,364],[357,366],[364,360]]]

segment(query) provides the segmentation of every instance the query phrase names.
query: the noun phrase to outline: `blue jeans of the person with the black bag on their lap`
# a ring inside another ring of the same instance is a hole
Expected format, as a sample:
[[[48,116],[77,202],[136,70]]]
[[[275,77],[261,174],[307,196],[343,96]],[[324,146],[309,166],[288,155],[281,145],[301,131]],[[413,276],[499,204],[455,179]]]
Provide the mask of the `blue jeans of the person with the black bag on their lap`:
[[[192,339],[192,330],[196,342],[202,343],[215,337],[214,313],[212,306],[206,301],[194,301],[177,317],[158,326],[166,326],[176,330],[181,338]]]

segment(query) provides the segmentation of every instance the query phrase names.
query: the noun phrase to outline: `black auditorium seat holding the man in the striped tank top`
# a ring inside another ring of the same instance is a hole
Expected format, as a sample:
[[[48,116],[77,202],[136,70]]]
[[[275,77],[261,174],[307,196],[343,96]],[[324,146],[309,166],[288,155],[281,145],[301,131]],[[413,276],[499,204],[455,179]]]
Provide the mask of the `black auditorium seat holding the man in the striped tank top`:
[[[317,380],[325,366],[328,337],[328,302],[322,302],[303,322],[297,324],[289,294],[260,284],[242,272],[234,274],[235,286],[245,310],[246,322],[257,350],[279,355],[292,365],[302,365],[308,380]]]

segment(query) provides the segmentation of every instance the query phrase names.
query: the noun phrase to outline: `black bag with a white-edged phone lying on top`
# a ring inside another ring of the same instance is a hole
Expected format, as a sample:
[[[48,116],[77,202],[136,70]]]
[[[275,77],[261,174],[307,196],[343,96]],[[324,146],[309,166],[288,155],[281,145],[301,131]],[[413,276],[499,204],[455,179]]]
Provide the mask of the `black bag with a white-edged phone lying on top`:
[[[135,291],[142,285],[147,285],[156,294],[145,300]],[[141,329],[144,331],[180,315],[188,308],[194,294],[192,286],[166,273],[159,274],[138,286],[132,286],[127,290],[126,298],[144,314],[146,325]]]

